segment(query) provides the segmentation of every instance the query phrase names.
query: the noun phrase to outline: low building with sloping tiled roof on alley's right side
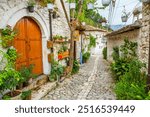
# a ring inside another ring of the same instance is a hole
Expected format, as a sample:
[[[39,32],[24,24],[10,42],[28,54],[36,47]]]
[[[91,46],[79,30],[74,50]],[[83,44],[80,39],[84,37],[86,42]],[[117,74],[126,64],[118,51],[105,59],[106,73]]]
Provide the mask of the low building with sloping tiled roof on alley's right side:
[[[134,24],[109,33],[106,35],[106,38],[107,58],[109,61],[112,61],[113,48],[121,46],[124,43],[124,39],[127,38],[130,41],[139,42],[139,40],[141,39],[141,22],[135,22]]]

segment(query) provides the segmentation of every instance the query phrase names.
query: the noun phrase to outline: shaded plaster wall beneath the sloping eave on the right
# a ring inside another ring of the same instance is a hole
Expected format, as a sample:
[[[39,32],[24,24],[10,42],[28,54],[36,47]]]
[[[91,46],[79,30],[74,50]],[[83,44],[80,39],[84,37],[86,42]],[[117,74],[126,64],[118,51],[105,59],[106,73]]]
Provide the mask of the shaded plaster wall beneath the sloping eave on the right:
[[[124,44],[125,38],[128,38],[130,41],[139,42],[140,37],[141,37],[140,34],[141,34],[140,29],[136,29],[136,30],[124,32],[121,34],[108,36],[107,37],[107,59],[108,61],[111,62],[113,60],[112,53],[113,53],[114,47],[116,46],[120,47],[122,44]],[[138,47],[138,50],[139,50],[139,47]]]

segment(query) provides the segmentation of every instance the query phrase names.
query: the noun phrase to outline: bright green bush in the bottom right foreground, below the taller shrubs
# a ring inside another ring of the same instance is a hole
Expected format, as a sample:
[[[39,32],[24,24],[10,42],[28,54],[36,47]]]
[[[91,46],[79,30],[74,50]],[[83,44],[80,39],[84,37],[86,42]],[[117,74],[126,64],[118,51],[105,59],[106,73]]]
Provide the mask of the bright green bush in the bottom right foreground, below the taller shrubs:
[[[129,71],[122,75],[116,83],[115,92],[118,99],[142,100],[148,95],[146,93],[146,75],[141,72],[144,65],[138,60],[132,60],[129,64]]]

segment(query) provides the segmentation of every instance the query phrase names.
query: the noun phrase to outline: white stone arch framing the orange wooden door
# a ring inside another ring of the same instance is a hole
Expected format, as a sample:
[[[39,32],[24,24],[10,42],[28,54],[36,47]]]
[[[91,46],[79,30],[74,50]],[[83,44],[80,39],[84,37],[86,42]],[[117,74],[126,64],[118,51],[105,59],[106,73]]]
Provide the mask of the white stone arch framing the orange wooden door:
[[[5,13],[5,15],[1,18],[0,28],[5,28],[5,26],[10,25],[12,28],[16,25],[16,23],[23,17],[32,18],[40,27],[42,32],[42,52],[43,52],[43,73],[50,73],[50,65],[48,63],[47,55],[49,50],[47,49],[47,40],[49,38],[49,28],[46,23],[46,18],[39,11],[35,11],[34,13],[29,13],[26,9],[25,4],[19,4],[16,8],[12,8]]]

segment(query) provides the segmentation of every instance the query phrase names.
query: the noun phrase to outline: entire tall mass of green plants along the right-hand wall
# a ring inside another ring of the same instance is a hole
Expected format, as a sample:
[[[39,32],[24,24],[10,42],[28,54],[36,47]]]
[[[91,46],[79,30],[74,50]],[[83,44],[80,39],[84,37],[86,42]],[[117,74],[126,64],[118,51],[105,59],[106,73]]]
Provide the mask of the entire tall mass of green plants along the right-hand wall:
[[[120,51],[119,51],[120,50]],[[120,54],[119,54],[120,53]],[[112,72],[115,74],[115,92],[121,100],[149,99],[146,92],[146,74],[142,72],[145,64],[138,60],[137,43],[127,39],[120,49],[113,49]]]

